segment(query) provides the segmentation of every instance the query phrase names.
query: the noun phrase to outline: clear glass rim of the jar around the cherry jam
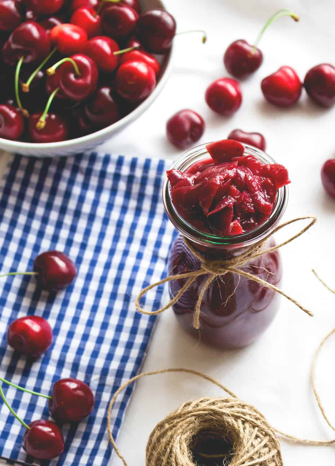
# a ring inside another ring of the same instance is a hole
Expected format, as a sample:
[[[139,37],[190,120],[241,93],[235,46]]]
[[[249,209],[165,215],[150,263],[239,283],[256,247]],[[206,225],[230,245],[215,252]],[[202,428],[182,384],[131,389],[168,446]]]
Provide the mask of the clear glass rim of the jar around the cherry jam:
[[[206,146],[201,144],[185,152],[176,160],[171,169],[186,171],[192,164],[210,157]],[[251,145],[243,144],[245,147],[245,155],[253,155],[261,160],[264,164],[276,164],[277,162],[270,157],[266,152],[261,151]],[[171,185],[168,178],[163,185],[163,204],[168,218],[188,240],[191,240],[201,246],[219,247],[219,248],[235,248],[251,246],[268,236],[275,226],[278,225],[282,215],[285,212],[288,203],[288,186],[283,186],[278,189],[275,206],[268,217],[261,225],[253,230],[232,236],[218,236],[214,233],[205,233],[198,230],[185,220],[177,209],[174,207],[171,198]]]

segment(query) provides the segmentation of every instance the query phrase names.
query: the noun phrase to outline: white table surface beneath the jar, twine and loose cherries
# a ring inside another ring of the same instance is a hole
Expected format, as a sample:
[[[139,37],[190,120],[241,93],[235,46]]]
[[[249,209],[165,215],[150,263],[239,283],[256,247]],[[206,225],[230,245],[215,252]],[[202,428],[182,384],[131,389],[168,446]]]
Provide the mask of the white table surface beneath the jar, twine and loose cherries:
[[[314,267],[335,288],[335,200],[322,189],[320,169],[334,157],[335,108],[324,110],[304,92],[291,109],[266,103],[260,89],[263,77],[282,65],[295,68],[303,79],[312,66],[334,63],[333,26],[335,3],[330,0],[166,0],[178,22],[178,30],[204,28],[208,42],[190,34],[175,39],[176,54],[171,78],[152,107],[126,131],[101,147],[129,156],[174,159],[181,154],[165,137],[165,123],[175,111],[191,108],[206,120],[200,142],[227,137],[235,129],[260,131],[267,151],[288,167],[292,184],[285,219],[313,214],[316,226],[284,247],[283,288],[309,307],[315,317],[303,314],[284,298],[274,324],[253,345],[234,351],[211,349],[186,335],[172,311],[161,315],[143,370],[185,367],[217,378],[250,404],[254,404],[278,429],[295,436],[329,440],[333,432],[318,411],[310,384],[311,361],[316,347],[335,327],[335,296],[312,274]],[[244,38],[255,40],[276,9],[292,7],[301,16],[295,23],[281,18],[267,31],[260,48],[264,63],[242,82],[243,103],[233,117],[214,114],[204,101],[207,86],[227,76],[222,55],[228,44]],[[5,162],[5,157],[1,163]],[[288,227],[277,240],[288,238],[303,225]],[[333,337],[320,357],[317,385],[329,418],[335,424]],[[154,426],[184,401],[224,393],[208,382],[187,375],[163,375],[142,379],[127,410],[118,445],[129,466],[145,464],[145,445]],[[285,466],[334,464],[333,447],[281,442]],[[114,455],[111,465],[121,465]],[[99,465],[97,465],[99,466]],[[157,465],[159,466],[159,465]]]

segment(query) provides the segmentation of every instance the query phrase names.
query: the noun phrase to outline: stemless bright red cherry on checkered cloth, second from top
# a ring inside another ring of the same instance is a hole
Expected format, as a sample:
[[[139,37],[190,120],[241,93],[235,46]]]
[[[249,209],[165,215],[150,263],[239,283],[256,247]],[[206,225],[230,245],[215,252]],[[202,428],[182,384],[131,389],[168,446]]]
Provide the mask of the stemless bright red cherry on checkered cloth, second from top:
[[[14,320],[7,329],[9,346],[29,357],[39,357],[51,346],[53,331],[48,322],[38,315],[27,315]]]

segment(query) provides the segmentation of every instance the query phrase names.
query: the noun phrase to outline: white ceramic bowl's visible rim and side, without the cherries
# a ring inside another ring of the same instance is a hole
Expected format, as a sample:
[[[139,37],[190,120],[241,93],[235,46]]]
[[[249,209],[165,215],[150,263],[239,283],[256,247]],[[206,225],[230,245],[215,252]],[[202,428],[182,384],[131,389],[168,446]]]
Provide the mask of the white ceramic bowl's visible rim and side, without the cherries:
[[[140,0],[142,12],[151,10],[153,8],[164,8],[160,0]],[[15,152],[21,155],[35,156],[35,157],[54,157],[59,155],[72,155],[83,151],[90,151],[99,144],[102,144],[114,134],[124,130],[126,126],[136,120],[147,110],[148,107],[154,102],[156,97],[163,89],[168,80],[172,69],[173,47],[170,52],[163,57],[161,63],[161,76],[157,82],[156,88],[147,99],[142,102],[135,110],[133,110],[126,117],[116,123],[107,126],[100,131],[96,131],[87,136],[77,137],[76,139],[69,139],[59,143],[36,144],[25,143],[20,141],[10,141],[0,137],[0,149],[8,152]]]

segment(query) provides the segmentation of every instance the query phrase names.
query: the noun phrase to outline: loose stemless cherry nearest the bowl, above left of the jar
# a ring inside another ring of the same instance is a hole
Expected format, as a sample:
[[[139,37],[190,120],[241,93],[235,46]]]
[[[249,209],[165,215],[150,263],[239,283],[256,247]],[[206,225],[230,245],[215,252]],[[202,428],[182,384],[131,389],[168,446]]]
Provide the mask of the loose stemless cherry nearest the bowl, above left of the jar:
[[[199,141],[205,130],[203,118],[193,110],[180,110],[167,123],[168,140],[185,149]]]

